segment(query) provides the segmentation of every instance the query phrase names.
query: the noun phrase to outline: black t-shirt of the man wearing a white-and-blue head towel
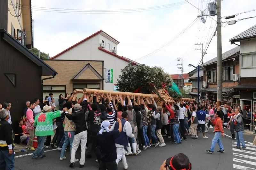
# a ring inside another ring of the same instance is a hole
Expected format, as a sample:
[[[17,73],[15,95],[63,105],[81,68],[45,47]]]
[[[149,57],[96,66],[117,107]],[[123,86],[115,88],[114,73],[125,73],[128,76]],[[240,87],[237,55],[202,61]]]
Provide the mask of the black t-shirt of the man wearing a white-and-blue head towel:
[[[100,148],[100,160],[112,162],[117,159],[115,139],[120,136],[118,130],[97,134],[97,145]]]

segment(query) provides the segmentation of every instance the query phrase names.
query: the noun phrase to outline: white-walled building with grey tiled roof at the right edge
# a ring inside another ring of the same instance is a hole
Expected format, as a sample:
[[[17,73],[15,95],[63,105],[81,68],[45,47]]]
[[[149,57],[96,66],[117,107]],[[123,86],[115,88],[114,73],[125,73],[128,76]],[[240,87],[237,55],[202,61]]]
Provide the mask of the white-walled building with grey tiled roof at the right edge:
[[[231,44],[240,42],[239,84],[234,87],[240,91],[242,110],[256,109],[256,25],[229,40]],[[236,44],[237,45],[237,44]]]

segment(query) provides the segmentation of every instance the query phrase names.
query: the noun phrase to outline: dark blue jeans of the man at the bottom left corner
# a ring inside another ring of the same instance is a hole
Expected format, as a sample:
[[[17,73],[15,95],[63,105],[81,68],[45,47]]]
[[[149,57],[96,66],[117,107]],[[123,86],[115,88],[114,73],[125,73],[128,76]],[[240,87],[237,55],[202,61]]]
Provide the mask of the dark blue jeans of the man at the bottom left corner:
[[[0,169],[14,170],[14,151],[9,155],[9,150],[0,150]]]

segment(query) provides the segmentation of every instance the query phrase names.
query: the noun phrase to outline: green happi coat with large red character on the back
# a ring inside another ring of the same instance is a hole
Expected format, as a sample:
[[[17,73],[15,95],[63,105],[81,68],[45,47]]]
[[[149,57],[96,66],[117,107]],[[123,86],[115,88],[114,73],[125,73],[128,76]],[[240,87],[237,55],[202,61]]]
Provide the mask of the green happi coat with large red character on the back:
[[[35,136],[51,136],[54,135],[52,127],[52,119],[60,117],[63,111],[40,113],[35,117],[34,126],[36,126]]]

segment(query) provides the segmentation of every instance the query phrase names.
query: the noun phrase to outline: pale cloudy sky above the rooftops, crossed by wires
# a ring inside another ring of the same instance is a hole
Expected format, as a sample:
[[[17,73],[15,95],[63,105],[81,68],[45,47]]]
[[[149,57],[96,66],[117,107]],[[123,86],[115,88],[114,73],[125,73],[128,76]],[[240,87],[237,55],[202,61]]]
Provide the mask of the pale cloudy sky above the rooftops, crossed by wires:
[[[206,6],[210,0],[188,1],[208,13]],[[224,0],[221,3],[223,17],[256,9],[255,0]],[[201,46],[194,44],[204,43],[206,48],[216,28],[216,16],[205,17],[205,24],[200,19],[193,22],[200,11],[191,4],[185,0],[32,0],[34,46],[52,57],[102,29],[120,42],[118,55],[163,67],[170,74],[180,74],[176,66],[180,62],[175,59],[183,58],[184,73],[188,73],[192,70],[188,64],[197,65],[201,58],[201,51],[195,51]],[[156,6],[162,7],[148,8]],[[256,11],[229,20],[252,16],[256,16]],[[223,18],[222,22],[225,21]],[[222,53],[236,47],[230,45],[228,39],[255,23],[256,18],[235,25],[223,23]],[[184,29],[186,31],[182,32]],[[217,37],[213,37],[206,52],[204,62],[217,56]]]

